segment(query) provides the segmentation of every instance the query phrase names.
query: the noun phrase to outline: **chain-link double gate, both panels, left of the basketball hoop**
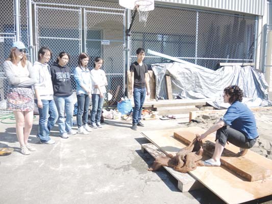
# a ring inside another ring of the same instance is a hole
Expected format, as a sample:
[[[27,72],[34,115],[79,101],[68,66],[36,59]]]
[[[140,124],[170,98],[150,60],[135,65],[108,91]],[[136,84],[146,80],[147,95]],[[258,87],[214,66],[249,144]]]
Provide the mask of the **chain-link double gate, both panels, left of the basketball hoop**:
[[[116,105],[125,93],[125,10],[104,7],[34,3],[36,54],[41,46],[53,51],[50,65],[60,52],[71,59],[71,71],[78,65],[78,56],[90,56],[89,68],[95,57],[102,57],[108,86],[106,103]],[[76,83],[72,77],[73,89]]]

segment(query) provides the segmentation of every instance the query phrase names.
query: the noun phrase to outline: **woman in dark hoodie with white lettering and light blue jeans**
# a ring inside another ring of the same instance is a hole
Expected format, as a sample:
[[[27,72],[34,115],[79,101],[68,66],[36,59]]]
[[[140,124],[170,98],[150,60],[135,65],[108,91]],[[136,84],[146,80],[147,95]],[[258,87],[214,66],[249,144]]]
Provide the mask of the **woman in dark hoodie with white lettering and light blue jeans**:
[[[72,130],[72,86],[71,86],[71,71],[67,65],[70,56],[61,52],[56,62],[51,67],[51,79],[53,83],[54,100],[59,113],[59,131],[60,137],[66,139],[68,135],[77,134]],[[66,119],[64,115],[66,113]]]

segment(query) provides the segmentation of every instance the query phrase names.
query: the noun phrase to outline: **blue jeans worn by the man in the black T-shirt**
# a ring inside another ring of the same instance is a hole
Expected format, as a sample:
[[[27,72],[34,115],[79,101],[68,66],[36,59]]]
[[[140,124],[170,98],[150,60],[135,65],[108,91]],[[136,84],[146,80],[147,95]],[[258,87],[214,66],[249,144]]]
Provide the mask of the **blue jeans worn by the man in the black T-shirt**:
[[[133,98],[134,98],[134,108],[132,114],[132,123],[138,123],[142,117],[142,106],[145,99],[146,88],[134,88]]]

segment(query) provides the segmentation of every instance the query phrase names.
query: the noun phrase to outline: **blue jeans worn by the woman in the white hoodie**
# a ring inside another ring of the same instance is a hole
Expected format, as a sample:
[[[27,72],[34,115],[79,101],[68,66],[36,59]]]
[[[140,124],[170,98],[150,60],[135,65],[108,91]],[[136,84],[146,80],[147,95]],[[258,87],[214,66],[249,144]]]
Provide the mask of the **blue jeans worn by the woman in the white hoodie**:
[[[58,120],[59,114],[54,100],[41,100],[42,109],[39,110],[38,138],[41,142],[50,140],[49,134]],[[35,100],[37,104],[37,100]]]

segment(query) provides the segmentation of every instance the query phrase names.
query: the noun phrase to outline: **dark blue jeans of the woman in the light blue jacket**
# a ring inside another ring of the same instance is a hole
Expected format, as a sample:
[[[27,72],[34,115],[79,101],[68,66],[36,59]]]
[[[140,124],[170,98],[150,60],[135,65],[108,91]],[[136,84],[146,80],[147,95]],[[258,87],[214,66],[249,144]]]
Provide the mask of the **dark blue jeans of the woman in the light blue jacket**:
[[[88,110],[90,106],[90,97],[87,94],[81,93],[77,95],[77,98],[78,98],[77,122],[78,122],[78,127],[81,127],[82,120],[83,120],[83,124],[88,123]]]

